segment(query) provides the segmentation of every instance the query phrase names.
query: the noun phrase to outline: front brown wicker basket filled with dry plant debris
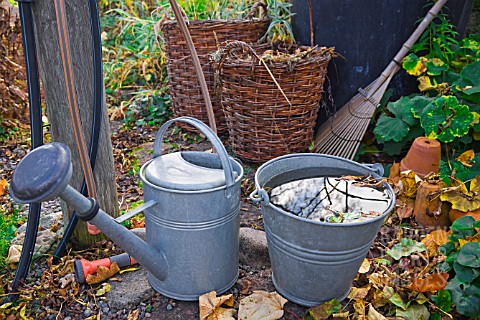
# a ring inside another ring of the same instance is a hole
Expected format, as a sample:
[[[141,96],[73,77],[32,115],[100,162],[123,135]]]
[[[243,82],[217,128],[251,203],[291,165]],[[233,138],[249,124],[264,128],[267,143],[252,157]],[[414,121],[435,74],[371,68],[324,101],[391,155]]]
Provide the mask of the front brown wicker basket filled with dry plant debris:
[[[243,160],[265,162],[308,151],[333,49],[291,47],[288,52],[295,49],[304,55],[261,62],[249,45],[237,41],[215,64],[230,144]]]

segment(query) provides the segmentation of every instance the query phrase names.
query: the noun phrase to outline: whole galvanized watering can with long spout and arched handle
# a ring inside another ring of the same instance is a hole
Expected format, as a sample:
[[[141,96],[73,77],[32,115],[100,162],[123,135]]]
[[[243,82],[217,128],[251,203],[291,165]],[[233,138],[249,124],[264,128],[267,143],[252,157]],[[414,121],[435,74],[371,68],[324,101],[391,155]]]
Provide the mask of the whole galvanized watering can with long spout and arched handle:
[[[217,153],[162,155],[165,132],[175,121],[199,129]],[[180,117],[160,128],[154,158],[140,171],[145,203],[116,220],[68,185],[71,175],[70,151],[53,142],[19,163],[10,193],[20,203],[62,198],[144,266],[152,287],[167,297],[197,300],[211,290],[225,292],[236,282],[243,168],[203,122]],[[119,223],[141,211],[146,242]]]

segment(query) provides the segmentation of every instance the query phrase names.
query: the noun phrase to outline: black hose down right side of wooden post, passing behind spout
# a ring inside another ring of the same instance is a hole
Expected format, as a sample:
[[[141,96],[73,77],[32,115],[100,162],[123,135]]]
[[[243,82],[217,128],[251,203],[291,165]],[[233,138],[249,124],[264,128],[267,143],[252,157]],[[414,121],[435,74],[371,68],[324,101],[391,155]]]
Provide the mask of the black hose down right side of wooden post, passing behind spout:
[[[89,159],[92,170],[95,169],[97,159],[98,142],[100,140],[100,130],[102,122],[102,106],[103,106],[103,65],[102,65],[102,43],[100,35],[100,19],[98,14],[98,5],[96,0],[88,0],[90,10],[90,29],[92,32],[92,53],[94,64],[94,93],[93,93],[93,119],[92,119],[92,136],[90,140]],[[81,192],[87,196],[86,181],[83,180]],[[64,235],[53,253],[53,263],[58,264],[60,258],[65,254],[67,242],[72,238],[75,227],[78,223],[76,211],[73,212],[68,226],[65,228]]]

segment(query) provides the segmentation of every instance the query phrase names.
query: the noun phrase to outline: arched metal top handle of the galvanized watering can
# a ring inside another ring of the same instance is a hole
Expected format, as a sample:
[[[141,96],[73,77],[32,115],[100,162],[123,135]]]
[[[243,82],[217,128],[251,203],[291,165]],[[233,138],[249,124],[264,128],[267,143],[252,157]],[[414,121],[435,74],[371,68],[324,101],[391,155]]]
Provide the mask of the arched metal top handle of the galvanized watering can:
[[[218,136],[212,131],[212,129],[210,129],[210,127],[207,126],[202,121],[192,117],[179,117],[179,118],[175,118],[165,122],[160,127],[160,129],[157,132],[157,135],[155,136],[155,143],[153,145],[153,157],[156,158],[162,155],[163,137],[165,136],[165,133],[167,132],[167,129],[170,127],[170,125],[176,121],[185,122],[194,126],[201,133],[203,133],[205,137],[207,137],[207,139],[213,145],[213,148],[217,151],[220,157],[220,162],[222,163],[222,168],[225,173],[225,182],[227,184],[226,197],[230,198],[231,196],[230,187],[234,185],[235,178],[233,175],[233,168],[229,160],[227,150],[225,150],[225,147],[223,146],[222,142],[220,141]]]

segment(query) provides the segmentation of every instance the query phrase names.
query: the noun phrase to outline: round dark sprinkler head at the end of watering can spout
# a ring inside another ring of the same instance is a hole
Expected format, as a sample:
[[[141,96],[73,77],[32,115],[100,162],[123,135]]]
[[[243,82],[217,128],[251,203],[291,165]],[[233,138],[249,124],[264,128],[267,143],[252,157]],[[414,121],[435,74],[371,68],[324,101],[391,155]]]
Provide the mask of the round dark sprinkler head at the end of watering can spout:
[[[27,154],[18,164],[10,183],[10,195],[19,203],[34,203],[58,197],[72,177],[68,147],[52,142]]]

